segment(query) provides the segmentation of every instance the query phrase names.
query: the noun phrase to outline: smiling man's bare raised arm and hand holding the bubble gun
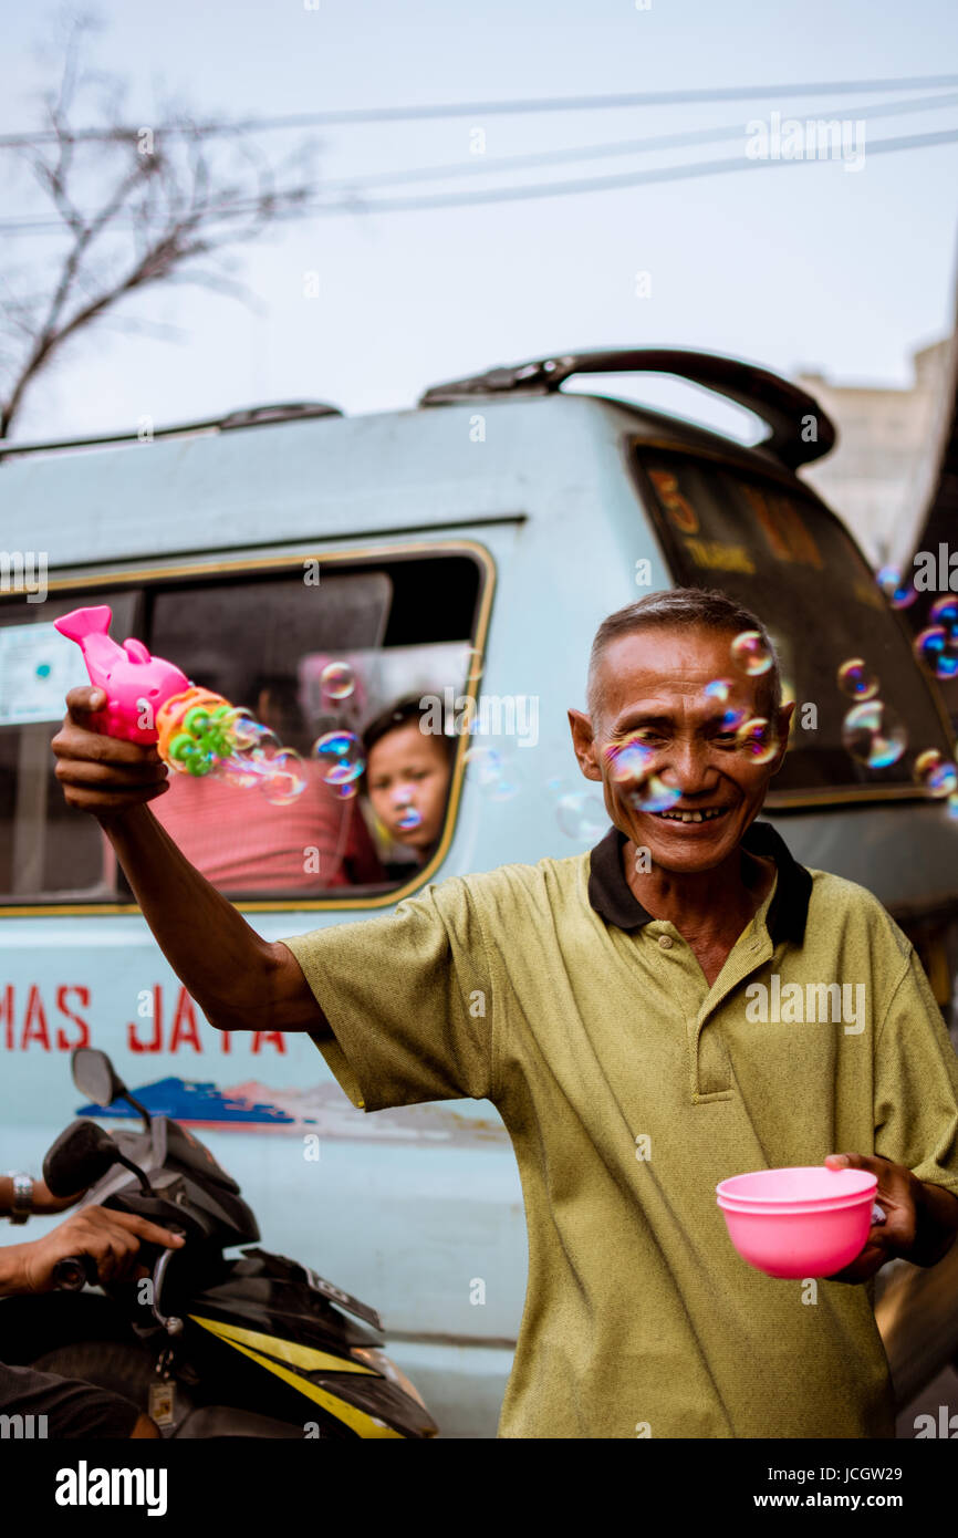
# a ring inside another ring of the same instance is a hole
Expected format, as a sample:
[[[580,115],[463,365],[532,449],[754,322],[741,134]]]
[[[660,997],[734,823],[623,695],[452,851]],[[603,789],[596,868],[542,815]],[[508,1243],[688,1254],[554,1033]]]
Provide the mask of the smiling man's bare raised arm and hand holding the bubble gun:
[[[181,854],[149,811],[168,791],[152,746],[91,731],[103,691],[71,689],[51,747],[68,806],[89,812],[117,852],[160,950],[220,1030],[309,1030],[329,1024],[292,952],[271,944]]]

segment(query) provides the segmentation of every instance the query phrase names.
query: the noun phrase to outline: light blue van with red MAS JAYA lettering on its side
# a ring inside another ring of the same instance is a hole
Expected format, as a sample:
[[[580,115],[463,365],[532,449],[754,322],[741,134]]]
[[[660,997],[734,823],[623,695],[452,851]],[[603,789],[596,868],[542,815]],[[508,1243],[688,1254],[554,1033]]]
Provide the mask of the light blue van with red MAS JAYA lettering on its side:
[[[560,389],[615,369],[710,386],[769,435],[743,448]],[[231,895],[272,940],[389,910],[429,880],[597,843],[604,814],[566,723],[583,704],[594,631],[644,592],[721,588],[769,624],[798,701],[766,815],[798,860],[881,898],[950,1021],[958,821],[916,783],[913,760],[950,758],[953,744],[901,615],[797,474],[832,441],[817,403],[761,369],[632,351],[494,369],[406,412],[272,408],[3,451],[0,1169],[38,1170],[78,1106],[71,1050],[103,1047],[135,1095],[200,1129],[269,1249],[380,1309],[391,1355],[443,1435],[494,1436],[526,1278],[521,1189],[497,1112],[454,1101],[366,1117],[308,1040],[223,1038],[201,1020],[98,826],[65,806],[52,777],[63,694],[86,681],[52,620],[109,603],[118,640],[140,637],[235,703],[255,707],[257,691],[286,684],[308,734],[355,727],[400,694],[437,692],[457,709],[477,698],[429,866],[398,884],[369,871],[348,880],[340,849],[295,891],[248,877]],[[880,678],[907,735],[887,767],[843,743],[853,701],[837,675],[850,658]],[[331,660],[358,680],[341,701],[317,692]]]

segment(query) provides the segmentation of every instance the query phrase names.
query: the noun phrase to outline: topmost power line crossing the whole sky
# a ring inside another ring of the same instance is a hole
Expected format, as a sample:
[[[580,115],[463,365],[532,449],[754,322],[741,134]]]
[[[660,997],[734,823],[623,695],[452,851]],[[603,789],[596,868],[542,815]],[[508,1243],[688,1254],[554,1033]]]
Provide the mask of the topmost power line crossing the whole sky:
[[[292,112],[286,117],[251,117],[238,118],[234,123],[161,123],[141,126],[115,128],[80,128],[72,134],[58,135],[55,129],[37,129],[35,132],[0,134],[0,149],[18,149],[26,145],[57,143],[66,137],[71,143],[109,141],[118,138],[135,140],[143,126],[149,126],[154,137],[158,134],[178,135],[212,135],[212,134],[248,134],[266,132],[272,129],[292,128],[329,128],[346,123],[415,123],[434,122],[449,117],[503,117],[531,112],[594,112],[614,111],[634,106],[687,106],[707,102],[755,102],[766,97],[797,97],[797,95],[829,95],[835,92],[872,92],[872,91],[920,91],[947,89],[958,86],[958,75],[910,75],[900,80],[832,80],[804,82],[763,86],[714,86],[689,91],[630,91],[606,95],[586,97],[540,97],[511,102],[455,102],[434,106],[380,106],[380,108],[343,108],[332,112]]]

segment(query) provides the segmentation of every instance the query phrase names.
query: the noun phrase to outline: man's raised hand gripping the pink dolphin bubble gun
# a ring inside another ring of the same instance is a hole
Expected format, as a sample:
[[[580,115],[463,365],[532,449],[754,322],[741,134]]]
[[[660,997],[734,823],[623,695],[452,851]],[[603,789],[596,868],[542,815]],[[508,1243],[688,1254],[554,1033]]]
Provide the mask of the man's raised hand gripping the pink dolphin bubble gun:
[[[69,691],[66,704],[68,714],[51,747],[68,806],[94,817],[115,817],[169,789],[169,771],[155,744],[128,743],[91,726],[91,715],[106,704],[103,689],[80,684]]]

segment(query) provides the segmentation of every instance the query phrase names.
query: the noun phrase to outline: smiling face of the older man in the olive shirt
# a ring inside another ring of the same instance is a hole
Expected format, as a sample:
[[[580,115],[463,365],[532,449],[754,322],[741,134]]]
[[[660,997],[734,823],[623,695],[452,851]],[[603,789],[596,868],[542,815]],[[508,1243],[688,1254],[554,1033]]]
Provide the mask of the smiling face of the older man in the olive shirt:
[[[597,715],[569,711],[580,769],[601,780],[606,811],[654,866],[674,872],[710,871],[726,860],[758,814],[770,777],[784,758],[793,704],[778,712],[773,757],[763,763],[743,747],[723,715],[763,717],[763,677],[741,674],[733,637],[704,628],[646,629],[612,640],[597,678]],[[726,700],[706,694],[718,678]],[[626,751],[627,749],[627,751]],[[666,812],[635,804],[641,781],[624,771],[641,760],[643,775],[678,791]]]

